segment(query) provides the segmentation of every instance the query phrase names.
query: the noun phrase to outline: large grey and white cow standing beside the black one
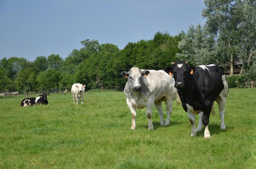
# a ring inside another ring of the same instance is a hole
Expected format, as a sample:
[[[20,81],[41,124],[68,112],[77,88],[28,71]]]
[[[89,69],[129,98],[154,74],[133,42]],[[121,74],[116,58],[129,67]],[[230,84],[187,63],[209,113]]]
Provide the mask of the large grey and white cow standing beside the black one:
[[[174,88],[174,79],[164,70],[142,70],[133,67],[130,71],[123,71],[122,75],[128,78],[124,88],[126,103],[132,114],[132,127],[136,128],[136,108],[147,108],[148,130],[153,130],[151,121],[154,105],[160,116],[161,125],[169,125],[172,114],[172,102],[177,97],[177,89]],[[167,118],[164,123],[162,102],[166,104]]]

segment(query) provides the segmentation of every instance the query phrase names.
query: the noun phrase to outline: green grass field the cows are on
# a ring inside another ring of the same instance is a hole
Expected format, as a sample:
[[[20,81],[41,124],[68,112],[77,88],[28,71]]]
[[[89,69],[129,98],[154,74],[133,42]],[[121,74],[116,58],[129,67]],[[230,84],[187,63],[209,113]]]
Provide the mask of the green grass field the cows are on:
[[[155,130],[148,131],[142,109],[131,130],[123,92],[85,93],[83,105],[70,93],[51,94],[48,106],[21,107],[23,95],[0,98],[0,168],[256,168],[255,95],[229,90],[224,131],[215,103],[209,139],[204,129],[190,137],[187,113],[176,103],[170,126],[160,126],[154,108]]]

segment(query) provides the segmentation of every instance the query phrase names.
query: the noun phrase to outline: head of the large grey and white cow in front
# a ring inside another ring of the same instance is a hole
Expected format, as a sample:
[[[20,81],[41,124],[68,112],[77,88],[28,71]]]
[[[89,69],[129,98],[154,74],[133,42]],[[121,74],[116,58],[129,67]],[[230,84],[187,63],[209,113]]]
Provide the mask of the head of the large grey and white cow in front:
[[[148,70],[141,71],[137,67],[133,67],[131,70],[123,71],[121,73],[124,77],[128,78],[128,84],[132,88],[133,92],[139,92],[141,90],[142,78],[149,74]]]

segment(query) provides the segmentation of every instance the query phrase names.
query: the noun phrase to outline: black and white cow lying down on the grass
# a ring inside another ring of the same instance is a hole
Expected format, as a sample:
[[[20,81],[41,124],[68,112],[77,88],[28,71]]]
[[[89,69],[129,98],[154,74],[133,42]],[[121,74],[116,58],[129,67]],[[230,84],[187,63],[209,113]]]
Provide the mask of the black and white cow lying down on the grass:
[[[20,106],[21,107],[26,107],[26,106],[33,106],[33,105],[36,105],[36,104],[37,105],[38,104],[48,105],[47,96],[49,96],[49,95],[50,94],[43,93],[43,95],[39,95],[39,97],[23,99],[20,102]]]

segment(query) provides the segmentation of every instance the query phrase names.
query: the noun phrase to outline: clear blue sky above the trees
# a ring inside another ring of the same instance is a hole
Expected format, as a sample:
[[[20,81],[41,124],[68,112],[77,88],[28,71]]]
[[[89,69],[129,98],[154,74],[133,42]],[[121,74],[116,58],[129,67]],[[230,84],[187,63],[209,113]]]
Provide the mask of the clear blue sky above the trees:
[[[158,31],[204,25],[203,0],[0,0],[0,59],[59,54],[97,39],[123,49]]]

